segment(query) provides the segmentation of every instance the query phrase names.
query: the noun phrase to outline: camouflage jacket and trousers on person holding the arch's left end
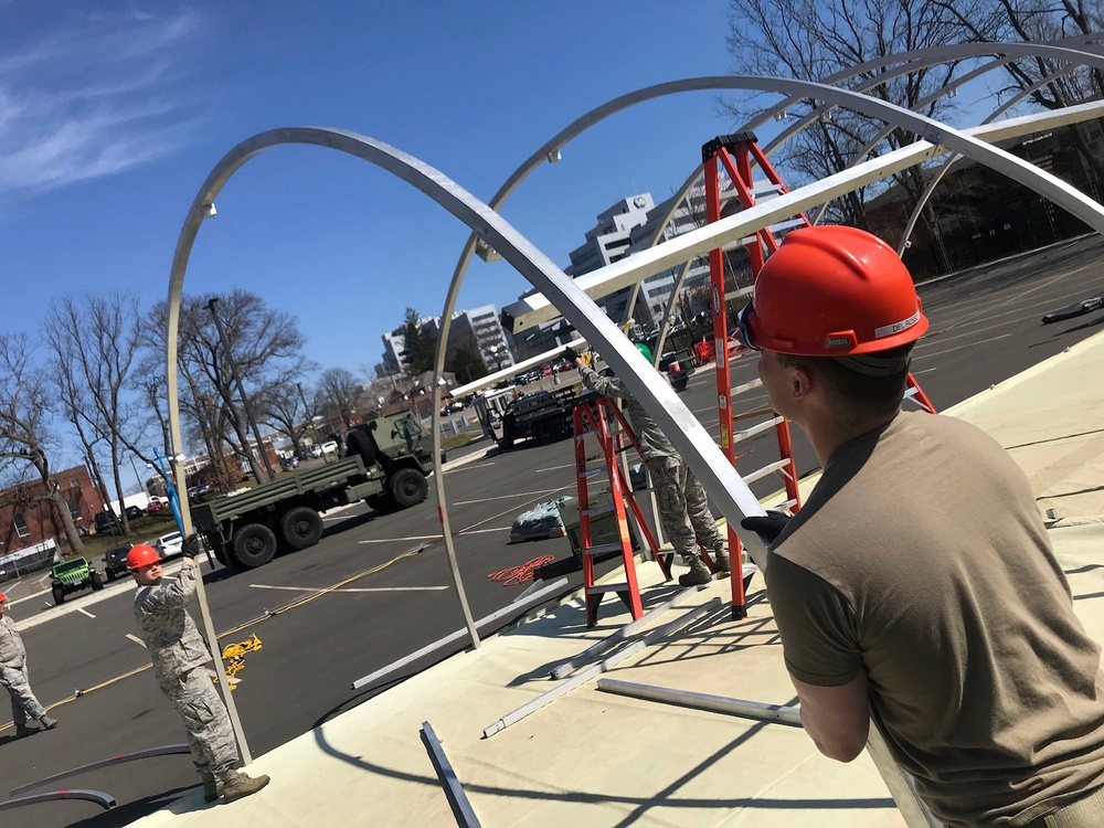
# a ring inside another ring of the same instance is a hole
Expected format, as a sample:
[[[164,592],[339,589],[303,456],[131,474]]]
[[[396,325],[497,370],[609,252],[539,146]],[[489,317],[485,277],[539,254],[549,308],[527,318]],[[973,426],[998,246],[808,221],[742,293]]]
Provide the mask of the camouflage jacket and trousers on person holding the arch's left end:
[[[157,683],[183,720],[195,768],[204,778],[222,777],[237,764],[237,742],[204,668],[211,654],[184,609],[195,593],[195,566],[185,563],[174,580],[138,587],[135,620],[153,661]]]

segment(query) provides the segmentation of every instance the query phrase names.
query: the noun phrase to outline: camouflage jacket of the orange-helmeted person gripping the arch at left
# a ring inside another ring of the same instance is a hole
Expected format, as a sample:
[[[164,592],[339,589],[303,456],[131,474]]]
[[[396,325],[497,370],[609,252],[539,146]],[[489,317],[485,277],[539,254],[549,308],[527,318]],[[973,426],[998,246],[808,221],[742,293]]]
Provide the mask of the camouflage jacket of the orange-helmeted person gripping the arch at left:
[[[157,586],[140,586],[135,593],[138,635],[149,649],[161,686],[211,660],[195,622],[184,608],[195,594],[195,570],[185,563],[177,577],[164,578]]]

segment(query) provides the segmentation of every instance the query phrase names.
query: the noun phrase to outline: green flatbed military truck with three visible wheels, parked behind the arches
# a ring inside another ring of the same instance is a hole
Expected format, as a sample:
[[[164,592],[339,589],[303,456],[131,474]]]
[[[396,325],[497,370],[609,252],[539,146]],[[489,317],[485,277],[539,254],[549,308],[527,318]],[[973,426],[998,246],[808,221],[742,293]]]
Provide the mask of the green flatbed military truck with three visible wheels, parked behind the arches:
[[[199,503],[192,522],[223,565],[262,566],[280,546],[318,543],[319,512],[327,509],[358,500],[376,511],[421,503],[429,489],[432,450],[429,433],[410,412],[378,417],[346,435],[344,458]]]

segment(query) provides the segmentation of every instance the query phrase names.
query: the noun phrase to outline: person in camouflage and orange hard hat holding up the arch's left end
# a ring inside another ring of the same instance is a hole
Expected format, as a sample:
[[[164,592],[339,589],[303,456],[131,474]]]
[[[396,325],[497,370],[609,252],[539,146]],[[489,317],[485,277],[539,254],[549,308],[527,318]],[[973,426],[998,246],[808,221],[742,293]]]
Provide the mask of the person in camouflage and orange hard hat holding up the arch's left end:
[[[171,581],[162,578],[157,550],[142,543],[127,554],[127,566],[138,584],[138,634],[149,650],[161,692],[184,723],[192,762],[203,779],[203,799],[213,803],[222,796],[229,803],[261,790],[268,777],[254,778],[234,769],[237,742],[205,667],[211,654],[184,608],[195,594],[200,551],[199,535],[190,534],[182,546],[180,573]]]

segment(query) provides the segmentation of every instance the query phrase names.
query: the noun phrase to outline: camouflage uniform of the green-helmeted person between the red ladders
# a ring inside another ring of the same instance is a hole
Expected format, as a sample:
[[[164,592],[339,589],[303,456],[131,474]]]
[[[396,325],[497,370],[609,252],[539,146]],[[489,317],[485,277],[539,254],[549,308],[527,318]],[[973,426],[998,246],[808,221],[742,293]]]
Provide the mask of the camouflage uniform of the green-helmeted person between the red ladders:
[[[640,455],[651,475],[659,521],[675,551],[688,562],[700,556],[697,538],[710,552],[723,552],[725,539],[709,511],[705,490],[655,418],[616,376],[603,376],[585,363],[578,365],[578,375],[588,389],[623,401],[624,412],[636,432]]]

